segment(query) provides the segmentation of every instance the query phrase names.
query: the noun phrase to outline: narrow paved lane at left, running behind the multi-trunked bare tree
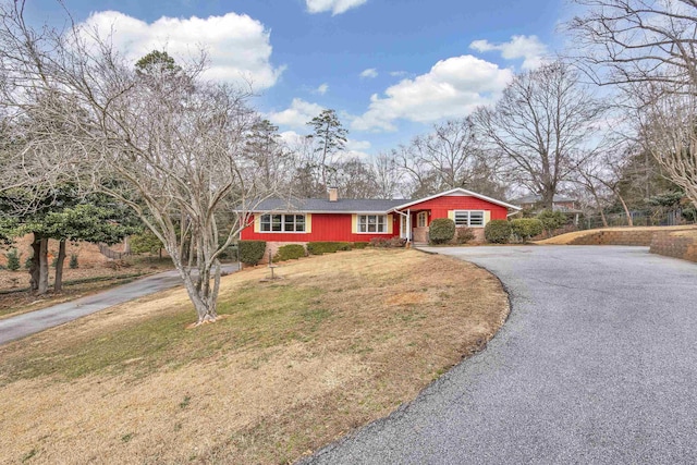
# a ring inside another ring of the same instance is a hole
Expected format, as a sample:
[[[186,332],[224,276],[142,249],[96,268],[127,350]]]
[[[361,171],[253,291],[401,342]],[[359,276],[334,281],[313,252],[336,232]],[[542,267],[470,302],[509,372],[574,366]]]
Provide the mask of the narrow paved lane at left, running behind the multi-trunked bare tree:
[[[223,266],[223,270],[227,272],[236,271],[237,265],[225,265]],[[181,284],[182,279],[176,270],[164,271],[110,289],[99,294],[88,295],[41,310],[17,315],[16,317],[1,319],[0,344]]]

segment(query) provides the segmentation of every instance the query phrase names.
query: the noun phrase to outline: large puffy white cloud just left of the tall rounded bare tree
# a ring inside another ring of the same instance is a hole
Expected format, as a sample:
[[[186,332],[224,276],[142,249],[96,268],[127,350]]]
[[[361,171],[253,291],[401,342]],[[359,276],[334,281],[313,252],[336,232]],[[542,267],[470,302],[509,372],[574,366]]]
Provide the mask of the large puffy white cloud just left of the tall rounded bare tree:
[[[375,94],[362,117],[353,120],[356,131],[394,131],[394,120],[432,122],[469,114],[480,105],[491,103],[513,77],[511,70],[470,54],[441,60],[415,78],[402,79]]]

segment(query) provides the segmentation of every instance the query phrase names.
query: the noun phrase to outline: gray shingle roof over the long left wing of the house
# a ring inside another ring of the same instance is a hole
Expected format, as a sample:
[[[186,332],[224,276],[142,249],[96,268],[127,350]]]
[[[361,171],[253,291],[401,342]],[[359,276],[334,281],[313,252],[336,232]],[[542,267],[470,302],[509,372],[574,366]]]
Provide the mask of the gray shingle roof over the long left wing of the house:
[[[405,199],[360,199],[360,198],[340,198],[337,201],[329,201],[326,198],[267,198],[261,201],[254,211],[305,211],[305,212],[381,212],[406,204]]]

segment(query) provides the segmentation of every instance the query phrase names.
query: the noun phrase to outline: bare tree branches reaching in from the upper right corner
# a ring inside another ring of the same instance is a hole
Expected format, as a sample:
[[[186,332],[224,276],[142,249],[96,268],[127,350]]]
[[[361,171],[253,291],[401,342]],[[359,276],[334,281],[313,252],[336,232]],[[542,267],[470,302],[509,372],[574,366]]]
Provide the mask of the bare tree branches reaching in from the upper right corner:
[[[568,23],[599,84],[617,85],[636,111],[639,140],[697,206],[697,3],[576,0]]]

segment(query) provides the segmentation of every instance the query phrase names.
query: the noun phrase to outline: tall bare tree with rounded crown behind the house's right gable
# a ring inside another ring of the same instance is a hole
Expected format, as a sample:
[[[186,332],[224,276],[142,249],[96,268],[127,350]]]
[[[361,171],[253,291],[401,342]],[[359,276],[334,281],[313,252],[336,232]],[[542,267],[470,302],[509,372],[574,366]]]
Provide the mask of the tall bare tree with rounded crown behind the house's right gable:
[[[592,154],[602,111],[577,73],[557,61],[515,76],[496,107],[474,118],[514,178],[551,208],[560,183]]]

